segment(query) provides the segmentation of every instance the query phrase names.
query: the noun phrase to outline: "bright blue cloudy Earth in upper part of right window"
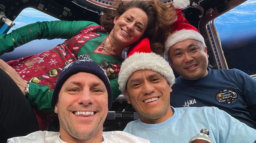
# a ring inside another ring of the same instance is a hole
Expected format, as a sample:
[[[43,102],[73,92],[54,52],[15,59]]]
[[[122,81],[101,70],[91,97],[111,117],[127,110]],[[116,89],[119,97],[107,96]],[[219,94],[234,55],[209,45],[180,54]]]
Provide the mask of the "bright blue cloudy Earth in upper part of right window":
[[[245,1],[236,8],[216,18],[214,23],[221,41],[240,41],[241,39],[255,37],[256,0]]]

